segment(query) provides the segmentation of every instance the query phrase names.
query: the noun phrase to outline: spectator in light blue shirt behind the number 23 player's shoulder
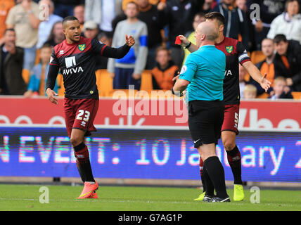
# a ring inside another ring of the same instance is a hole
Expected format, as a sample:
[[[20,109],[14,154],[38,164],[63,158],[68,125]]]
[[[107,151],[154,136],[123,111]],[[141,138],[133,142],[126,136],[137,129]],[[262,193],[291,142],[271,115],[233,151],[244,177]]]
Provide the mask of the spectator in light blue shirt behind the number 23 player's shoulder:
[[[49,15],[44,14],[44,20],[39,24],[37,49],[40,49],[41,46],[43,46],[43,44],[47,41],[53,25],[59,21],[63,21],[63,18],[53,14],[53,1],[41,0],[39,1],[39,6],[44,8],[44,11],[49,8]]]

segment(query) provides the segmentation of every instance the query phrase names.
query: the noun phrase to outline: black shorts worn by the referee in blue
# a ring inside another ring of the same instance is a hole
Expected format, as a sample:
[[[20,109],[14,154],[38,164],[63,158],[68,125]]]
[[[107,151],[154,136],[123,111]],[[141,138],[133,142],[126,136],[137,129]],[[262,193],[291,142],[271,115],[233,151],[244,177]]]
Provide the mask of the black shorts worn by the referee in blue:
[[[224,122],[223,101],[191,101],[188,103],[188,126],[194,147],[216,143]]]

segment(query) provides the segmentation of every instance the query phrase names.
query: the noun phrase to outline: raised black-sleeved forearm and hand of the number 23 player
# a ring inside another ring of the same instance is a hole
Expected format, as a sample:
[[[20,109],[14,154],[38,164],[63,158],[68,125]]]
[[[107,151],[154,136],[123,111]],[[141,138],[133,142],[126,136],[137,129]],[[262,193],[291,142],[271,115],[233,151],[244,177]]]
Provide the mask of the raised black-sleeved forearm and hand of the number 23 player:
[[[106,46],[103,50],[103,56],[108,58],[123,58],[129,52],[129,49],[135,44],[135,39],[132,36],[125,37],[126,44],[118,49]]]

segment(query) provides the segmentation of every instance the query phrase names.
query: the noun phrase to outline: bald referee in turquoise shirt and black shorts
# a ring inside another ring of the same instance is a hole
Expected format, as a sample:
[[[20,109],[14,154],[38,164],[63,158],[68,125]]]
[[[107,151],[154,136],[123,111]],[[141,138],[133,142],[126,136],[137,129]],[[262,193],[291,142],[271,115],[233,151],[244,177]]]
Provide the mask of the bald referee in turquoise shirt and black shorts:
[[[217,196],[205,194],[204,201],[230,202],[226,193],[224,167],[215,154],[224,121],[223,81],[225,54],[216,49],[217,29],[212,22],[203,22],[196,29],[198,51],[191,53],[183,66],[172,92],[181,95],[186,88],[188,126],[194,147],[204,160],[203,173],[207,185],[214,186]]]

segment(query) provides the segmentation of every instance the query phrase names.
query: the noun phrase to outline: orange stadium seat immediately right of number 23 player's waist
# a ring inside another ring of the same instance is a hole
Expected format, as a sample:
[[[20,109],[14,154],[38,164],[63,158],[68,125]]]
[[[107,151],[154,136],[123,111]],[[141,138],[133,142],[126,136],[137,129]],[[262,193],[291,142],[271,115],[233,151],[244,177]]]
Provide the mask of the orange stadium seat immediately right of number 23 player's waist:
[[[113,91],[113,79],[110,77],[108,70],[96,70],[96,85],[99,96],[107,97]]]

